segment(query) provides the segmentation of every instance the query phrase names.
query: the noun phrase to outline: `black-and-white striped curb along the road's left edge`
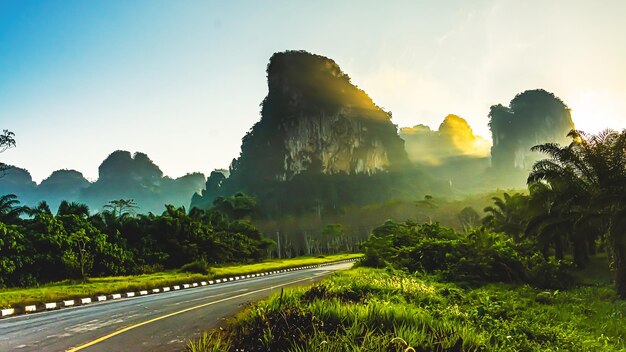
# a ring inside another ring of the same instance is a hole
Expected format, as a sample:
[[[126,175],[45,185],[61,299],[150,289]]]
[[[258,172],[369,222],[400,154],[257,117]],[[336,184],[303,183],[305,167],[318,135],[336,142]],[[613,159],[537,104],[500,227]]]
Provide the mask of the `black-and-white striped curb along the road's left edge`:
[[[299,266],[299,267],[286,268],[286,269],[280,269],[280,270],[274,270],[274,271],[267,271],[267,272],[262,272],[262,273],[220,277],[219,279],[213,279],[213,280],[208,280],[208,281],[192,282],[188,284],[179,284],[179,285],[173,285],[173,286],[162,287],[162,288],[153,288],[153,289],[141,290],[137,292],[113,293],[109,295],[98,295],[98,296],[84,297],[84,298],[71,299],[71,300],[62,300],[59,302],[31,304],[27,306],[16,306],[13,308],[1,309],[0,319],[6,318],[6,317],[17,316],[17,315],[23,315],[23,314],[58,310],[58,309],[74,307],[74,306],[84,306],[84,305],[89,305],[89,304],[104,302],[104,301],[109,301],[109,300],[131,298],[131,297],[145,296],[145,295],[158,294],[158,293],[166,293],[170,291],[186,290],[186,289],[192,289],[192,288],[197,288],[197,287],[202,287],[202,286],[214,286],[218,284],[228,283],[231,281],[253,279],[253,278],[257,278],[261,276],[282,274],[282,273],[286,273],[290,271],[320,268],[323,266],[341,264],[341,263],[350,263],[350,262],[356,262],[359,260],[361,260],[361,258],[344,259],[344,260],[339,260],[336,262]]]

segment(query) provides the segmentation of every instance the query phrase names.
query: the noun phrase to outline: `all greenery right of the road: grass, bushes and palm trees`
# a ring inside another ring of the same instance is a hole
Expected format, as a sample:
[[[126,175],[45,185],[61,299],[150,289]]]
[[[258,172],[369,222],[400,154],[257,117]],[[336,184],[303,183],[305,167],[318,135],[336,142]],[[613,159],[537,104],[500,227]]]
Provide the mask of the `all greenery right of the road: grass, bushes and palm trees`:
[[[387,221],[355,270],[282,292],[189,351],[626,350],[626,131],[533,148],[528,193],[463,232]],[[474,224],[474,225],[472,225]]]

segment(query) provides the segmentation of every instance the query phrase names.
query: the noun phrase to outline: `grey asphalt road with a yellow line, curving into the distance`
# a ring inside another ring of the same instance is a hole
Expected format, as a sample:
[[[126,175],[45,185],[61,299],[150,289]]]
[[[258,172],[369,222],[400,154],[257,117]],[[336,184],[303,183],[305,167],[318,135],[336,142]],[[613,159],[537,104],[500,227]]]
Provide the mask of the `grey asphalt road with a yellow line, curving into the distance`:
[[[352,263],[0,320],[0,351],[182,351],[250,302]]]

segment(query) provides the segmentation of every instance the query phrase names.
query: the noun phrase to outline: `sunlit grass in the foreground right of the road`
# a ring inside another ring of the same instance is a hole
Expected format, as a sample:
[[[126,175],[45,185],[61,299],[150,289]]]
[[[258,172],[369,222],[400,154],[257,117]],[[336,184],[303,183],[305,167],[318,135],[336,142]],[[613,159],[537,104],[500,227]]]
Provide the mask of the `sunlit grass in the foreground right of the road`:
[[[626,302],[358,268],[251,306],[188,346],[206,351],[625,351]]]

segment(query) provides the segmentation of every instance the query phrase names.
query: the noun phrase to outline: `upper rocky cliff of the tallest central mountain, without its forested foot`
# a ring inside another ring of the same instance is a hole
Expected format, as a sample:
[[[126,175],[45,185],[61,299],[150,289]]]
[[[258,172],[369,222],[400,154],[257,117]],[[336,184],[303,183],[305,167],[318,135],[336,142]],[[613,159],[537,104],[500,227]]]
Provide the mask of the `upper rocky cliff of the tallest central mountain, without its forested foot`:
[[[391,114],[333,60],[277,53],[267,77],[261,121],[244,137],[233,172],[262,168],[267,179],[289,180],[306,171],[373,174],[406,162]]]

